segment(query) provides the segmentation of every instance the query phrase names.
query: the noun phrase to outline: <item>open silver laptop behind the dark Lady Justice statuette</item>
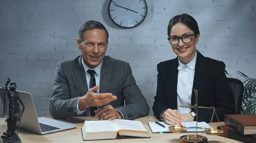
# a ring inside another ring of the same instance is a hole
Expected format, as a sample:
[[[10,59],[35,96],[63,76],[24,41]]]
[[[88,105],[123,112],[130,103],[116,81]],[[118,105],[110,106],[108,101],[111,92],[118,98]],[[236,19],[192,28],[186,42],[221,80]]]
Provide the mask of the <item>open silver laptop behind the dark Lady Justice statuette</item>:
[[[76,128],[76,125],[70,123],[64,123],[61,121],[56,121],[54,119],[49,118],[38,118],[35,105],[32,100],[32,96],[30,93],[17,91],[19,93],[20,99],[25,106],[25,110],[23,112],[23,116],[20,122],[20,129],[24,129],[30,132],[37,133],[39,135],[49,134],[52,132],[58,132],[66,129]],[[0,87],[0,96],[3,103],[3,88]],[[7,115],[9,114],[9,98],[6,95],[6,108]],[[22,109],[22,105],[20,105]],[[17,127],[19,122],[17,122]]]

